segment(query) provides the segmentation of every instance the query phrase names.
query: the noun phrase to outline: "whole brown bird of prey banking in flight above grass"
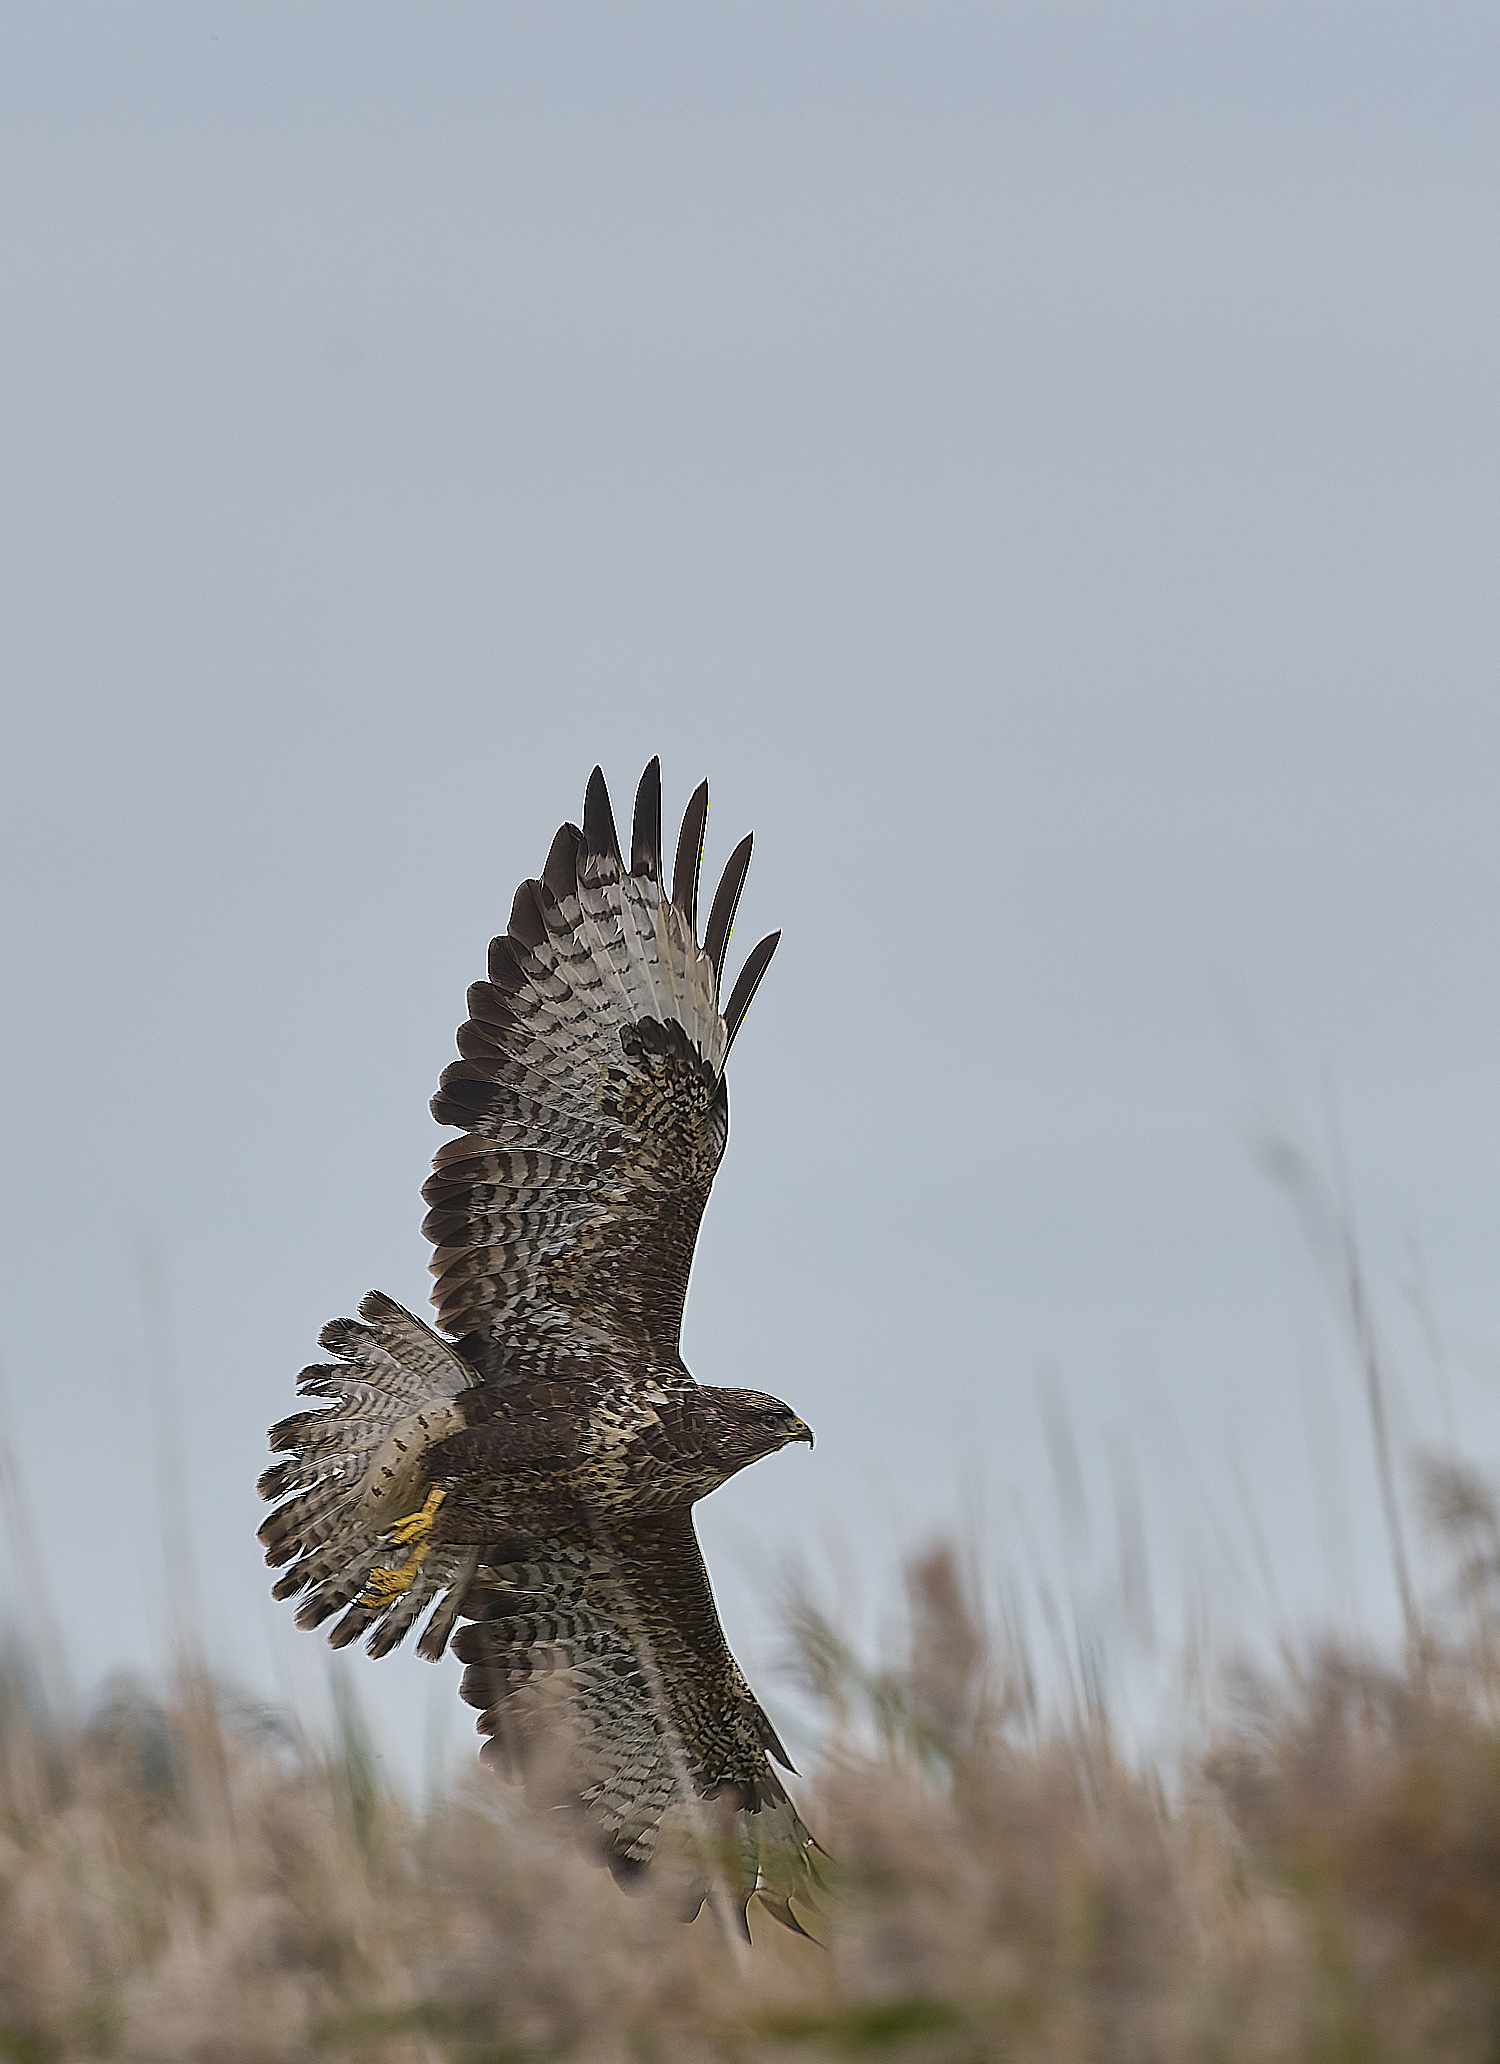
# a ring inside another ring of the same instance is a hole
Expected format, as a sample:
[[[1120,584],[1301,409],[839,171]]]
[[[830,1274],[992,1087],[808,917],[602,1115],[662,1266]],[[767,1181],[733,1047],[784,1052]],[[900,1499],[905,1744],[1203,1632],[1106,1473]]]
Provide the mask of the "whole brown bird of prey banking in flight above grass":
[[[433,1117],[456,1125],[423,1189],[442,1331],[382,1292],[320,1335],[299,1389],[332,1399],[270,1430],[260,1529],[303,1595],[299,1626],[466,1664],[485,1754],[549,1759],[615,1870],[677,1831],[743,1922],[790,1928],[819,1849],[772,1759],[790,1761],[728,1651],[693,1505],[747,1463],[813,1443],[761,1391],[697,1385],[679,1333],[728,1139],[724,1063],[780,933],[720,1005],[751,840],[697,939],[708,782],[662,869],[660,764],[629,859],[594,768],[522,881],[468,991]],[[462,1622],[462,1624],[460,1624]],[[565,1742],[565,1752],[559,1744]],[[559,1761],[561,1759],[561,1761]]]

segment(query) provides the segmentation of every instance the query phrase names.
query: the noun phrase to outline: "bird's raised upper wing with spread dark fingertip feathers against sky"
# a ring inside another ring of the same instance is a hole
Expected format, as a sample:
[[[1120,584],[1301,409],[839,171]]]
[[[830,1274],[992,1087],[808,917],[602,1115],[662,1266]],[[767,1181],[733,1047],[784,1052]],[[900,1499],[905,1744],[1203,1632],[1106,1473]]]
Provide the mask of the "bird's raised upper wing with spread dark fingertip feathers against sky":
[[[485,1375],[553,1366],[590,1344],[671,1362],[697,1226],[724,1141],[724,1059],[780,933],[718,987],[751,840],[730,854],[697,943],[708,782],[660,854],[660,764],[635,797],[631,863],[594,768],[582,832],[565,824],[522,881],[489,980],[468,991],[462,1055],[433,1117],[464,1137],[423,1195],[433,1302]]]

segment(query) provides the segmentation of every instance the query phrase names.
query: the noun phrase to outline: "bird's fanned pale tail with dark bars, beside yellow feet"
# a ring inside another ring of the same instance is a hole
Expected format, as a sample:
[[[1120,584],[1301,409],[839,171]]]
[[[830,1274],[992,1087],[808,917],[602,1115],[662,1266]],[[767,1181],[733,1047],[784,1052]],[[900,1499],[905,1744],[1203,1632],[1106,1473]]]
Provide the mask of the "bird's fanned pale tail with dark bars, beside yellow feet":
[[[423,1503],[421,1457],[464,1426],[458,1393],[479,1381],[442,1335],[371,1290],[355,1319],[334,1319],[320,1346],[336,1360],[303,1368],[297,1389],[332,1397],[316,1412],[293,1412],[270,1428],[272,1449],[289,1449],[260,1478],[262,1498],[279,1498],[260,1529],[266,1562],[291,1565],[274,1598],[305,1591],[297,1626],[343,1618],[328,1635],[340,1649],[369,1633],[369,1653],[384,1655],[437,1604],[421,1653],[444,1653],[458,1618],[477,1552],[437,1544],[413,1583],[386,1604],[361,1604],[371,1569],[390,1560],[382,1536]]]

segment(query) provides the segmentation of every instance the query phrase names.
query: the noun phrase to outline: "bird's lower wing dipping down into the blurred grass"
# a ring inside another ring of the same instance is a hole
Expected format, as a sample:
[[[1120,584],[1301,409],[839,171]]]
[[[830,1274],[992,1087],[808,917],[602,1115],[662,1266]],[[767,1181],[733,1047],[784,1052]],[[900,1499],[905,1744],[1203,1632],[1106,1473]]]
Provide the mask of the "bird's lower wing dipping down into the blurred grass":
[[[772,1769],[790,1763],[724,1643],[691,1515],[524,1552],[468,1585],[472,1624],[452,1643],[485,1756],[514,1771],[551,1759],[619,1874],[675,1831],[702,1889],[728,1874],[741,1907],[759,1893],[801,1932],[792,1901],[815,1911],[821,1851]]]

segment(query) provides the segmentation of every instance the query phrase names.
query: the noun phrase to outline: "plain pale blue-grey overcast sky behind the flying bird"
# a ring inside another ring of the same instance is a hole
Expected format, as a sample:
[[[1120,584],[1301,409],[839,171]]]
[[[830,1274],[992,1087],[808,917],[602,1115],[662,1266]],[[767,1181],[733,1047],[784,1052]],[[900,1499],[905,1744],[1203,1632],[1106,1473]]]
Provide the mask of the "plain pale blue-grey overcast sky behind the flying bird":
[[[264,1428],[423,1309],[464,987],[654,751],[784,927],[685,1331],[819,1437],[702,1511],[751,1668],[784,1558],[875,1620],[959,1521],[1141,1641],[1137,1490],[1160,1655],[1389,1624],[1248,1141],[1337,1104],[1401,1441],[1500,1457],[1496,76],[1479,4],[0,6],[0,1362],[85,1684],[173,1414],[213,1657],[318,1680]]]

